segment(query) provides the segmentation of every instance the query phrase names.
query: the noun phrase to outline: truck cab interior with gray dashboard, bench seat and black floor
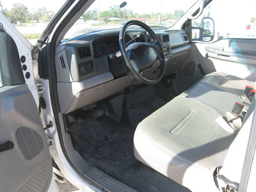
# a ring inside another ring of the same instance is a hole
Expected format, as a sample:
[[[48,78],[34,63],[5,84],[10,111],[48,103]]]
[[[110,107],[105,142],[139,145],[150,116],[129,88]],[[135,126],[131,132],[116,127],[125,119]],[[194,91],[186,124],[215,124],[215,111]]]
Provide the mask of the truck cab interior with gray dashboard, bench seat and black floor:
[[[63,19],[38,55],[39,77],[49,76],[62,150],[84,179],[104,191],[238,190],[256,40],[219,38],[214,3],[170,28],[134,19],[65,38],[91,1]]]

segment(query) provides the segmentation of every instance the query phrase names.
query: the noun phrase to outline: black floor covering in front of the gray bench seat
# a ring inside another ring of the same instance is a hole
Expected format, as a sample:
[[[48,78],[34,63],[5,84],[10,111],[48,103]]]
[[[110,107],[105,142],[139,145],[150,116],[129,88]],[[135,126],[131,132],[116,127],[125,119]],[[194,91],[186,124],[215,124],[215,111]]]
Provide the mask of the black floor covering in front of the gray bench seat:
[[[69,125],[73,146],[88,163],[138,191],[189,191],[134,157],[137,124],[165,103],[153,86],[146,86],[106,101],[108,117],[80,112],[82,123]]]

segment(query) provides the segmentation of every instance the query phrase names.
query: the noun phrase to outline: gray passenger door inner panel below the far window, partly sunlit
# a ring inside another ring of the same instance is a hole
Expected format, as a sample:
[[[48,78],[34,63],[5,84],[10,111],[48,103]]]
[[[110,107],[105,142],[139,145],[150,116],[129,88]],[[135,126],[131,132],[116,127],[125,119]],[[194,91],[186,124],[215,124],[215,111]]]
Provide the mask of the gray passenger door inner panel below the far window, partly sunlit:
[[[185,91],[204,75],[223,72],[249,81],[256,81],[256,40],[222,39],[213,43],[193,43],[191,53],[181,67],[180,86]],[[190,75],[182,73],[188,63],[194,62],[195,70]],[[205,74],[198,68],[201,64]]]

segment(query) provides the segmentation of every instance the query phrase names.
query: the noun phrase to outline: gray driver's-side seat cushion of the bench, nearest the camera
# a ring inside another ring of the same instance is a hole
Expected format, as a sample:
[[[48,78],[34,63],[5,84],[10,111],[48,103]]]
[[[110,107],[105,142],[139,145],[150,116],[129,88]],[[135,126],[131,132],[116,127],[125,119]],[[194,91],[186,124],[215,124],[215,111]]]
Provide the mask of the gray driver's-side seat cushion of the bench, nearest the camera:
[[[135,157],[192,191],[215,191],[212,173],[223,165],[236,136],[215,122],[219,116],[204,104],[178,96],[138,124]]]

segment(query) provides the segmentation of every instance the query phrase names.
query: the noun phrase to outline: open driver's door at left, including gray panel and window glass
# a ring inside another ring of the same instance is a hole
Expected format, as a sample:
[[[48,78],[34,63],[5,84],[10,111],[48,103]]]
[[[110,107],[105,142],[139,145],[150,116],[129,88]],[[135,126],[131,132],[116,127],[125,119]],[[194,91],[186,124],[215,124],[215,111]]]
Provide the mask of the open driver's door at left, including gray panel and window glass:
[[[52,160],[21,60],[32,63],[20,57],[5,28],[0,29],[0,42],[0,190],[48,191]]]

